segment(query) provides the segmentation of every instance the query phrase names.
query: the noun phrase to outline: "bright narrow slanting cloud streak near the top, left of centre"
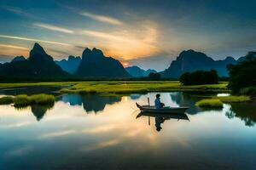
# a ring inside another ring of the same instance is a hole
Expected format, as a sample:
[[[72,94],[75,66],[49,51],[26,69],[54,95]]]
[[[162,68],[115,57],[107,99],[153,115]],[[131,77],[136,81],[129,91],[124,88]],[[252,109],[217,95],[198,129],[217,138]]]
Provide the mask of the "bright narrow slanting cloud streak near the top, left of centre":
[[[105,16],[105,15],[91,14],[91,13],[80,13],[80,14],[83,16],[86,16],[92,20],[97,20],[97,21],[101,21],[104,23],[112,24],[112,25],[122,25],[123,24],[122,21],[114,19],[109,16]]]

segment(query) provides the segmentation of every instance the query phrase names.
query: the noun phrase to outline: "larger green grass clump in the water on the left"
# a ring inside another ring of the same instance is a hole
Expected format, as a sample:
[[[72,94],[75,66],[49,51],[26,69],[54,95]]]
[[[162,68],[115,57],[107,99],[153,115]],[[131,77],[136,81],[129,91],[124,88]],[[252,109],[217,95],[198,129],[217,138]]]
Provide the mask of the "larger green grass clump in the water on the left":
[[[35,94],[28,96],[26,94],[20,94],[15,96],[15,107],[26,107],[27,105],[53,105],[55,103],[55,97],[49,94]]]

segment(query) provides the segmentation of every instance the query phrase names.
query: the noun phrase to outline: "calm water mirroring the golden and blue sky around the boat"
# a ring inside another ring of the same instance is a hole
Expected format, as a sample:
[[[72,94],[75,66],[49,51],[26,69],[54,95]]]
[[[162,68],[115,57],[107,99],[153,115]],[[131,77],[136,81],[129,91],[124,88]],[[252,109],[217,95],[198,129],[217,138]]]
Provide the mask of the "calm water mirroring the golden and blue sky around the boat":
[[[256,104],[203,111],[198,94],[162,93],[187,118],[138,116],[154,93],[68,94],[54,106],[0,105],[0,169],[254,169]]]

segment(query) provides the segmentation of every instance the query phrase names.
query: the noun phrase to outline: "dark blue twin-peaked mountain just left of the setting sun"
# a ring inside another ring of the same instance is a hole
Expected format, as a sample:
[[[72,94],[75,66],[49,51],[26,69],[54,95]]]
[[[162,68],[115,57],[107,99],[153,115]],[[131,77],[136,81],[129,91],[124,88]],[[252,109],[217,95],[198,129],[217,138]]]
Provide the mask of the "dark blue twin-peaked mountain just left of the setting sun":
[[[78,77],[130,77],[119,60],[106,57],[101,50],[85,48],[78,70]]]

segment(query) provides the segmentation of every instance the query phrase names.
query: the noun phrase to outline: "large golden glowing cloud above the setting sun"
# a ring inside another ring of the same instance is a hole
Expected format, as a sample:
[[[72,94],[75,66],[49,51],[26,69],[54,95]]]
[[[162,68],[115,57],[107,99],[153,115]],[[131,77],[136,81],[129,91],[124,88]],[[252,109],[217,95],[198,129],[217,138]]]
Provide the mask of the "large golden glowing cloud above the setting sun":
[[[116,32],[82,30],[79,33],[97,37],[96,45],[100,46],[99,48],[102,48],[107,55],[117,59],[140,58],[160,50],[157,43],[159,31],[147,24]]]

